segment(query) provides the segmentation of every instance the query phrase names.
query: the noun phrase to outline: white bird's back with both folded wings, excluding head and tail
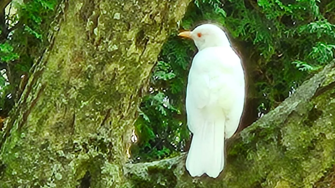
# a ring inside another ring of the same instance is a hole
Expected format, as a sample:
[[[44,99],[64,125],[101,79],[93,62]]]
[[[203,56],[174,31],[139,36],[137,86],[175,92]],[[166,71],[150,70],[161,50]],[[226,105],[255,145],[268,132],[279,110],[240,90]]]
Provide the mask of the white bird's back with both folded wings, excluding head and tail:
[[[189,129],[194,133],[206,118],[219,115],[217,109],[208,111],[215,106],[221,107],[224,111],[221,115],[227,116],[226,130],[235,132],[243,111],[244,92],[241,60],[231,48],[199,51],[192,61],[186,91]]]

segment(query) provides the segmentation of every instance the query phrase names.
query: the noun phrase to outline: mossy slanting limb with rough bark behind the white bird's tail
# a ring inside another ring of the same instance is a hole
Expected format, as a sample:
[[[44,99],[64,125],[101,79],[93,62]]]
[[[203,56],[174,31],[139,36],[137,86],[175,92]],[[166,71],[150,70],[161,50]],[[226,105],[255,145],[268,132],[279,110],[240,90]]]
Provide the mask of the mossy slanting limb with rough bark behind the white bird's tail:
[[[124,173],[139,188],[335,187],[334,63],[228,140],[225,170],[217,179],[191,178],[185,170],[185,154],[127,164]]]

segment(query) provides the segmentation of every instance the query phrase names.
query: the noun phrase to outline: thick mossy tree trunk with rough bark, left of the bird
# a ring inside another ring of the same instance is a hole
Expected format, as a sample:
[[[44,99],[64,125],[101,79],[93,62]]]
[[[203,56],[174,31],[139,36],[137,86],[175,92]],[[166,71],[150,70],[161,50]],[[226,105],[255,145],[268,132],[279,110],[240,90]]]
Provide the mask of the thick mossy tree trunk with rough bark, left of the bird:
[[[0,187],[132,187],[133,123],[190,0],[63,0],[0,140]],[[136,186],[135,186],[136,187]]]

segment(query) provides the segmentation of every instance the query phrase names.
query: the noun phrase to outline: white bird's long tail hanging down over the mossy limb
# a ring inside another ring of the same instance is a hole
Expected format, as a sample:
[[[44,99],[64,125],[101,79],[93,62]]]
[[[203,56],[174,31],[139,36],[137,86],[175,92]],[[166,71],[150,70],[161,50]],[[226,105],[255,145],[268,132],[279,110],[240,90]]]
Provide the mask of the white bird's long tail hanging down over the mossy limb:
[[[224,166],[224,125],[225,117],[215,117],[204,121],[193,132],[191,147],[186,158],[186,169],[190,175],[201,176],[206,173],[216,178]]]

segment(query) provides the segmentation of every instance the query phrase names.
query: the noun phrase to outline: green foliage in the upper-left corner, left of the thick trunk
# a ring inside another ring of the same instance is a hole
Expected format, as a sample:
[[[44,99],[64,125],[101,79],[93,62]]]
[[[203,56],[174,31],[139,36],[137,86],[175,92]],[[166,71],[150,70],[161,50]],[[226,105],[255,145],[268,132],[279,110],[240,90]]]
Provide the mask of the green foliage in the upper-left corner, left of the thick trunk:
[[[13,0],[8,6],[2,27],[10,31],[5,38],[0,38],[0,65],[5,69],[6,75],[0,74],[0,116],[6,116],[11,109],[15,92],[21,81],[21,75],[27,75],[33,61],[40,55],[46,41],[49,23],[58,0],[29,0],[19,3]],[[0,70],[1,70],[0,69]],[[5,73],[5,72],[3,72]],[[6,82],[4,76],[8,77]],[[6,84],[6,85],[5,85]]]

